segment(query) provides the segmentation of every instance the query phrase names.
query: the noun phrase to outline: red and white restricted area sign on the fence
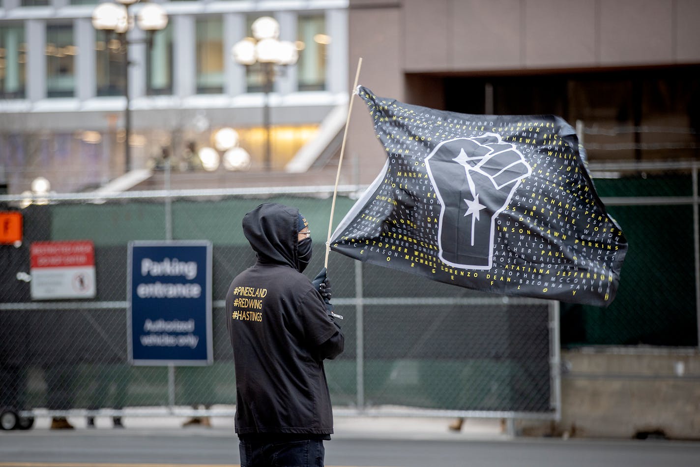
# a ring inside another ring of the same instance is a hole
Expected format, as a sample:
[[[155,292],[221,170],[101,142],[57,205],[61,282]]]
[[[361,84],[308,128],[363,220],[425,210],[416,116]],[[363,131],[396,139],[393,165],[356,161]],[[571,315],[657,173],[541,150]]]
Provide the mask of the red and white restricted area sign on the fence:
[[[91,241],[33,242],[31,298],[94,298],[94,245]]]

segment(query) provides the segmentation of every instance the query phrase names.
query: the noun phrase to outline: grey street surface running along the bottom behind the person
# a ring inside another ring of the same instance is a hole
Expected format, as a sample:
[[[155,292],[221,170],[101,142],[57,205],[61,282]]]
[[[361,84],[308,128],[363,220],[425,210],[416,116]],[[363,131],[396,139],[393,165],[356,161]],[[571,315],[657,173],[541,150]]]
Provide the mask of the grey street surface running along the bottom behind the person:
[[[328,467],[697,467],[700,443],[512,438],[451,433],[447,421],[340,421]],[[339,429],[341,428],[341,429]],[[229,426],[0,432],[0,467],[210,467],[239,464]]]

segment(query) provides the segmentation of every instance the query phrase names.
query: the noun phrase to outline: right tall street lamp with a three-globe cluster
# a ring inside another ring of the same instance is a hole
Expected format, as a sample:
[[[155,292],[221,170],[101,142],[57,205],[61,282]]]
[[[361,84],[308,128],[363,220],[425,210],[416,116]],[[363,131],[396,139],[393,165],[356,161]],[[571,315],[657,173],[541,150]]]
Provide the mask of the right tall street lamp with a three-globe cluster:
[[[299,58],[297,48],[290,41],[279,40],[279,22],[270,16],[262,16],[251,25],[253,37],[246,37],[232,48],[234,60],[250,67],[256,63],[262,68],[265,102],[262,108],[262,126],[265,128],[265,169],[272,169],[272,144],[270,139],[269,94],[276,76],[276,67],[294,65]]]

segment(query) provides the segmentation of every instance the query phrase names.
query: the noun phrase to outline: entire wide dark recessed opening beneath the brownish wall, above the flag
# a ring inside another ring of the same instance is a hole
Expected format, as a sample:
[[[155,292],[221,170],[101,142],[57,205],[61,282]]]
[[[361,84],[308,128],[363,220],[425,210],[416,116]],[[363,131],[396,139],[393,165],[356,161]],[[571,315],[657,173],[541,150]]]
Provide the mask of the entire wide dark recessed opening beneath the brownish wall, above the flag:
[[[445,110],[561,115],[584,137],[589,161],[700,157],[700,67],[448,77]],[[492,107],[486,109],[486,89]],[[524,93],[523,90],[527,92]]]

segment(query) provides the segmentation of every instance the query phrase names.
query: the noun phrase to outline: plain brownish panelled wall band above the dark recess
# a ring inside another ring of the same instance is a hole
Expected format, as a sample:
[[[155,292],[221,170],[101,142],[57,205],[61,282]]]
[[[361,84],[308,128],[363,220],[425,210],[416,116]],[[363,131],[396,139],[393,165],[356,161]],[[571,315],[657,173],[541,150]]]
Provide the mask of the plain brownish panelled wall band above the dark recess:
[[[700,60],[692,0],[403,0],[405,72]]]

